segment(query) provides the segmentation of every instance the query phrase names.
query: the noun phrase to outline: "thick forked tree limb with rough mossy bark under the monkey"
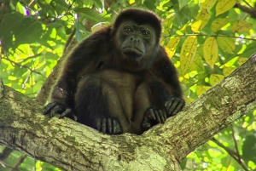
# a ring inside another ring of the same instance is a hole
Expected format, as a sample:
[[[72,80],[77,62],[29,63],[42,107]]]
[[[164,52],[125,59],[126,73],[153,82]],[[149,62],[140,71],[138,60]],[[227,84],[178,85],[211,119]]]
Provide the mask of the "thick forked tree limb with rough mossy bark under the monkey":
[[[0,144],[66,170],[179,170],[189,151],[256,108],[256,54],[165,124],[109,136],[44,117],[38,102],[0,83]]]

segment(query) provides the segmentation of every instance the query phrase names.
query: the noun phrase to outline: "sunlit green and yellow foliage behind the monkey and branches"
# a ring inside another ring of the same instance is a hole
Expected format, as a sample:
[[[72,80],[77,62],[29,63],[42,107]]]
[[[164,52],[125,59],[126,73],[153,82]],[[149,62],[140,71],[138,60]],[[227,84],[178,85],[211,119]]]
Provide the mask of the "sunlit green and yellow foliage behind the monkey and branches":
[[[68,38],[80,42],[108,26],[122,9],[154,11],[160,43],[177,67],[187,104],[198,99],[256,52],[254,0],[0,0],[0,79],[36,98]],[[254,11],[254,13],[253,13]],[[93,26],[85,26],[90,22]],[[74,33],[74,34],[73,34]],[[67,54],[65,51],[64,54]],[[256,108],[256,106],[255,106]],[[1,109],[1,106],[0,106]],[[256,110],[191,151],[183,170],[256,169]],[[0,153],[4,146],[0,146]],[[22,158],[23,157],[23,158]],[[12,151],[0,169],[59,170]],[[20,159],[23,159],[20,162]]]

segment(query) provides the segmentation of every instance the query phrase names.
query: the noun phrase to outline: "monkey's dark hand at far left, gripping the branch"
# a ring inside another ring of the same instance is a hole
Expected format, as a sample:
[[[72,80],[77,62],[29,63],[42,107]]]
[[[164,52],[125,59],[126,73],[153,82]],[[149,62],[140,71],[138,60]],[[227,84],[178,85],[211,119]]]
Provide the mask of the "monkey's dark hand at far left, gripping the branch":
[[[67,108],[65,105],[61,105],[55,101],[50,102],[45,106],[44,115],[49,115],[49,117],[54,117],[56,114],[60,114],[60,119],[63,117],[73,118],[74,121],[77,121],[77,117],[74,115],[71,108]]]

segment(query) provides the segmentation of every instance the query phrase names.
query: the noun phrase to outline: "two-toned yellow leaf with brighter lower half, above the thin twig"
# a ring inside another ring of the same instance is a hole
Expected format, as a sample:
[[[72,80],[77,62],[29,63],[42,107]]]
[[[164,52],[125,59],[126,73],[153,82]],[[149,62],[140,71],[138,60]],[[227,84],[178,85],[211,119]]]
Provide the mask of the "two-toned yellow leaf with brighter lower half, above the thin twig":
[[[191,30],[194,32],[200,32],[210,20],[211,15],[208,14],[207,9],[201,11],[200,14],[197,15],[195,22],[191,25]]]

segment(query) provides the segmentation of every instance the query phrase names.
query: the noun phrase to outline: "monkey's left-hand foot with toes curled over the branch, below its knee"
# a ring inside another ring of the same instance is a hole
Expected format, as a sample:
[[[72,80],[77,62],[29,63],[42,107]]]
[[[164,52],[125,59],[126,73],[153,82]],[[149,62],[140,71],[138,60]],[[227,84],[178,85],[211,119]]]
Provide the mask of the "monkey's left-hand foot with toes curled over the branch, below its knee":
[[[96,121],[97,130],[103,134],[122,134],[122,128],[118,119],[112,117],[98,118]]]

